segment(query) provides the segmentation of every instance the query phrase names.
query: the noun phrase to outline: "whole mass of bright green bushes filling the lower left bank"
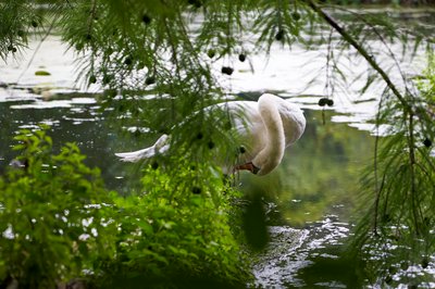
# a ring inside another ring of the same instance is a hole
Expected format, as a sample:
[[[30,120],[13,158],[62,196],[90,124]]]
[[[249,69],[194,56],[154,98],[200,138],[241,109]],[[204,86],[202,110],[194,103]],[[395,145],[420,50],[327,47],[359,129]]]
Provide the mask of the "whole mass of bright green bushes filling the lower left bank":
[[[20,155],[0,178],[0,281],[53,288],[76,277],[98,288],[225,286],[250,280],[229,226],[221,174],[177,162],[144,172],[144,193],[108,192],[73,143],[52,151],[45,130],[15,137]],[[200,177],[199,177],[200,176]]]

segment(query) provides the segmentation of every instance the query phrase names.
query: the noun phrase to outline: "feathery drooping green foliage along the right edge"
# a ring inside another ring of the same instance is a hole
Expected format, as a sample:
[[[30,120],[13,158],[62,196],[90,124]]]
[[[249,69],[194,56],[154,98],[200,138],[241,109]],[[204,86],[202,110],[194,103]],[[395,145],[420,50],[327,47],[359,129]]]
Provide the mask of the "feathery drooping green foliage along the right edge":
[[[408,98],[411,111],[395,99],[381,103],[377,125],[387,124],[388,136],[377,138],[374,167],[368,167],[362,179],[373,206],[359,222],[355,241],[360,241],[366,268],[381,274],[381,281],[388,285],[409,280],[402,276],[393,280],[397,269],[391,272],[386,264],[396,267],[405,260],[402,271],[411,266],[424,269],[435,252],[434,65],[430,56],[424,79],[417,84],[419,96]],[[411,285],[433,281],[433,276],[424,273],[417,278],[409,278]]]

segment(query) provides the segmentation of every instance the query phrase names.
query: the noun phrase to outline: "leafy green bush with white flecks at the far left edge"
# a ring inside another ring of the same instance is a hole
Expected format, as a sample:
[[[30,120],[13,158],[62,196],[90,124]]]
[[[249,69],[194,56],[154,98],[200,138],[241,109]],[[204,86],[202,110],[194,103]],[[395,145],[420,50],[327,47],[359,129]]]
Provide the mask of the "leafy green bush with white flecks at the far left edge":
[[[44,130],[15,139],[15,167],[0,178],[0,279],[53,288],[113,255],[109,193],[75,144],[54,154]]]

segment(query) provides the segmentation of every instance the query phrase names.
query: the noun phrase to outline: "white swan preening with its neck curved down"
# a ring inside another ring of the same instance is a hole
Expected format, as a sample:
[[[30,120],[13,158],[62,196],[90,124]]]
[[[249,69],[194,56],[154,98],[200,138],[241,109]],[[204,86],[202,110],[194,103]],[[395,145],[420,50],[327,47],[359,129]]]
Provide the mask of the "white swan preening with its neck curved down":
[[[229,101],[209,106],[228,112],[239,136],[240,152],[233,172],[247,169],[257,175],[272,172],[283,160],[285,148],[303,134],[306,118],[296,105],[274,95],[264,93],[256,101]],[[149,148],[116,153],[122,161],[137,162],[169,149],[169,136],[163,135]]]

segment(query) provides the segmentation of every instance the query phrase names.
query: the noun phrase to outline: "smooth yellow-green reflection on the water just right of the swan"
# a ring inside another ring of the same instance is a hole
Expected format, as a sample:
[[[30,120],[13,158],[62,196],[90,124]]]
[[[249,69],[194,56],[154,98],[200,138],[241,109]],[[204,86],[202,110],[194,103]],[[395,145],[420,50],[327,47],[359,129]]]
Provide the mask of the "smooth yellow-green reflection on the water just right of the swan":
[[[332,114],[326,112],[323,125],[321,112],[306,111],[306,133],[287,149],[278,168],[264,177],[241,175],[243,190],[260,189],[276,204],[271,225],[303,227],[327,214],[348,221],[352,213],[361,168],[371,161],[374,138],[332,123]]]

